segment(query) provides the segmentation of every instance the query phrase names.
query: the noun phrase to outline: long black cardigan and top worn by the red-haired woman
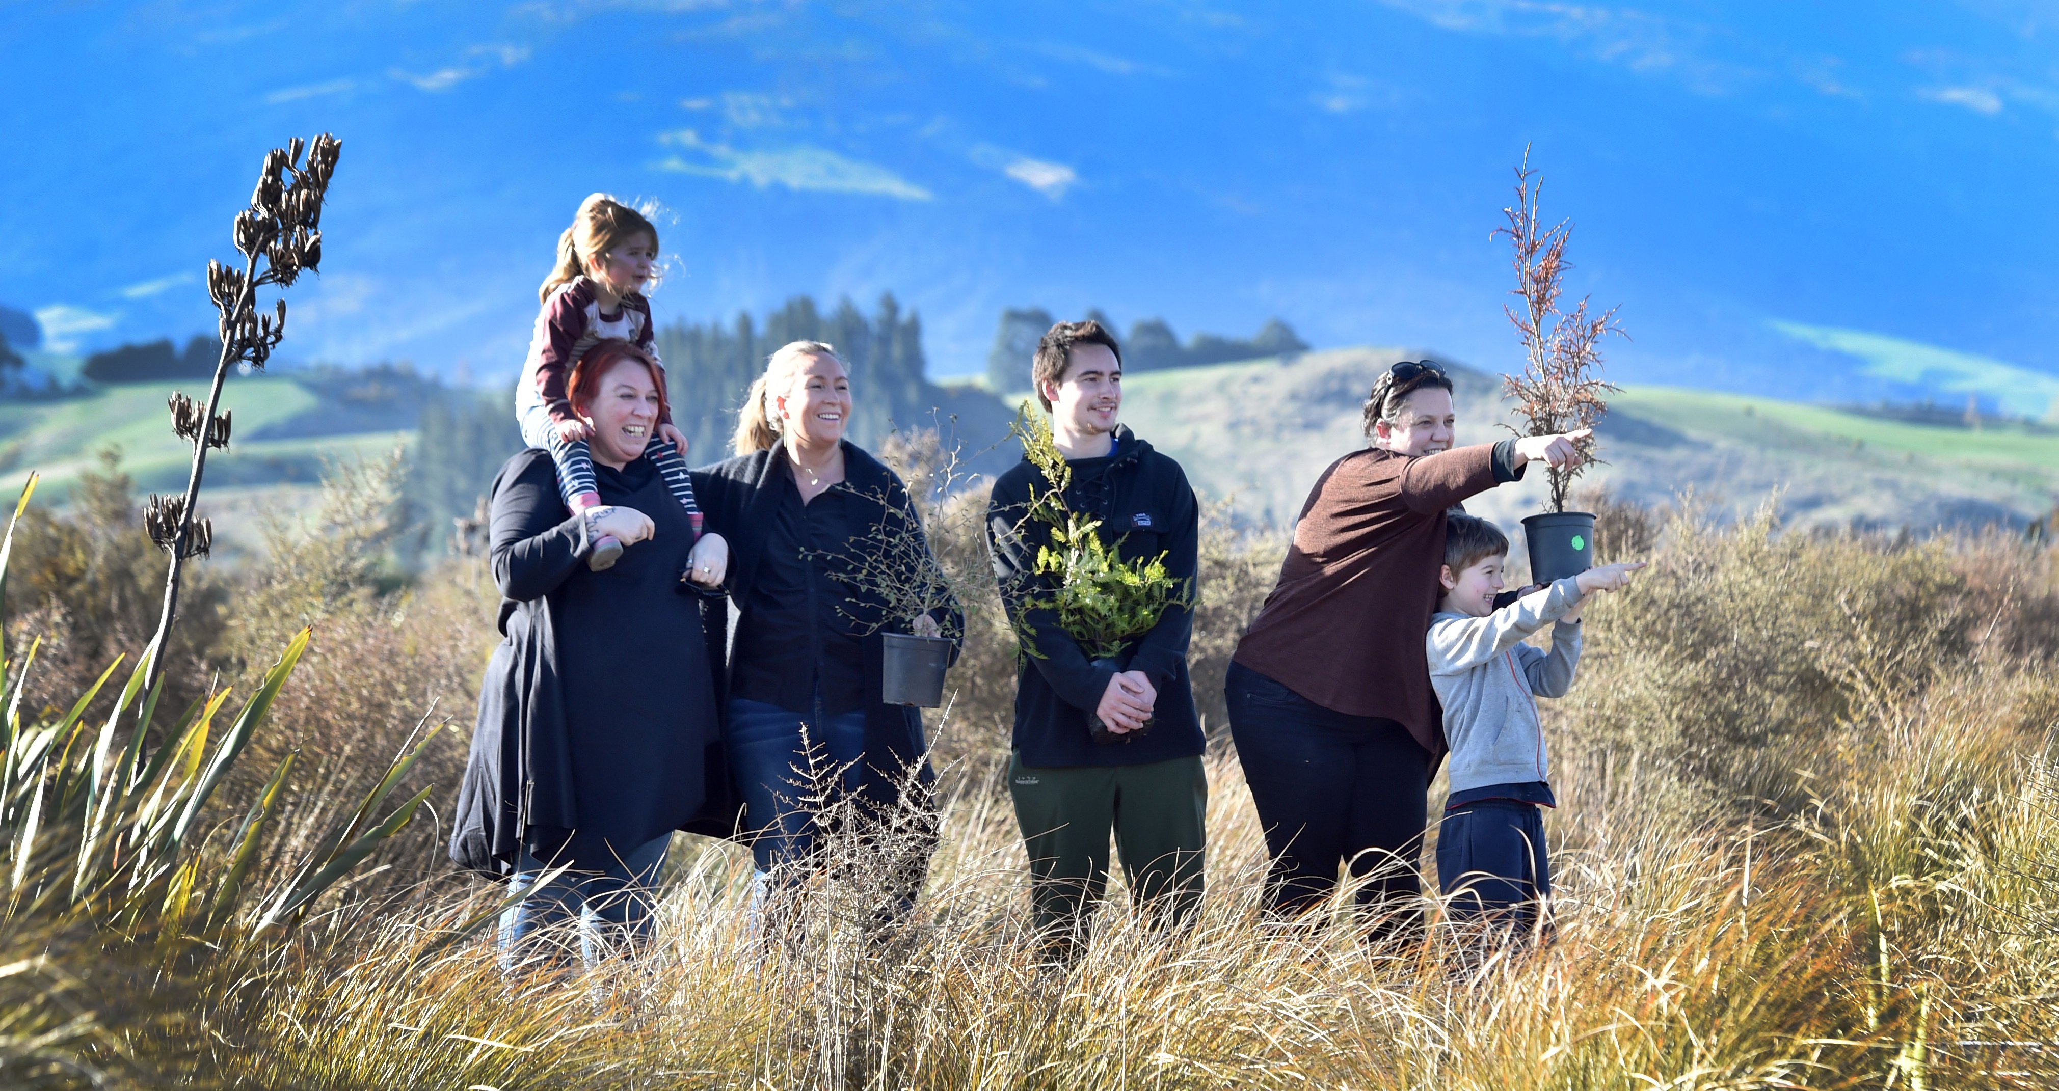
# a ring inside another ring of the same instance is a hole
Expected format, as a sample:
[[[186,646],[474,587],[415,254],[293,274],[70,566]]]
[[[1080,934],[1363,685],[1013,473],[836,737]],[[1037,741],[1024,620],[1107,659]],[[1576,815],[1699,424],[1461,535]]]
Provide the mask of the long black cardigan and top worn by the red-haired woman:
[[[692,535],[663,476],[630,463],[597,478],[605,502],[657,525],[607,572],[587,570],[585,519],[566,511],[548,453],[523,451],[494,478],[502,640],[451,832],[451,860],[469,871],[507,877],[523,844],[550,850],[574,828],[622,850],[673,828],[735,830],[717,718],[727,615],[677,593]]]

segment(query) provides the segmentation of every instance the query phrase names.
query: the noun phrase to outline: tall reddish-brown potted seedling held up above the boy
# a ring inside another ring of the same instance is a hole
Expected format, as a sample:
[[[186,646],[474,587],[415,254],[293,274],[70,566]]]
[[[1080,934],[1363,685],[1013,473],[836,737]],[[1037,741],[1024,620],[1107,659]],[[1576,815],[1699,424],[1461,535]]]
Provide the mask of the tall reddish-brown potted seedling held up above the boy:
[[[1616,311],[1600,315],[1587,311],[1583,296],[1571,313],[1559,307],[1565,274],[1573,268],[1565,259],[1565,243],[1573,233],[1571,220],[1542,226],[1538,220],[1538,191],[1542,183],[1530,169],[1530,154],[1515,169],[1515,206],[1503,208],[1507,224],[1495,235],[1507,235],[1513,247],[1515,290],[1522,307],[1503,307],[1524,342],[1522,375],[1503,375],[1503,391],[1515,397],[1515,408],[1524,414],[1530,436],[1557,436],[1594,428],[1608,410],[1602,395],[1616,387],[1596,377],[1602,366],[1600,342],[1608,333],[1622,333],[1616,325]],[[1515,430],[1515,428],[1509,428]],[[1594,515],[1565,511],[1573,480],[1587,465],[1594,465],[1594,436],[1577,443],[1581,461],[1567,467],[1550,467],[1550,511],[1524,519],[1524,537],[1530,546],[1530,578],[1552,583],[1573,576],[1594,566]]]

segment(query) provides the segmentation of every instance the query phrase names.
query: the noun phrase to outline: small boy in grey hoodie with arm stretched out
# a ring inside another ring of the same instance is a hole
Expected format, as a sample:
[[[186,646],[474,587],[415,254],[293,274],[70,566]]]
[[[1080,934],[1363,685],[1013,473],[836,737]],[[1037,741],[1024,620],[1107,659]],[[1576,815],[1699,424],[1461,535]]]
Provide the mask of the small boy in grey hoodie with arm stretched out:
[[[1643,562],[1606,564],[1538,587],[1495,609],[1509,539],[1485,519],[1445,517],[1443,599],[1429,626],[1429,679],[1452,747],[1452,795],[1437,828],[1437,879],[1452,916],[1528,932],[1550,895],[1544,815],[1555,807],[1536,698],[1573,688],[1579,607],[1596,591],[1629,587]],[[1524,638],[1552,624],[1550,650]]]

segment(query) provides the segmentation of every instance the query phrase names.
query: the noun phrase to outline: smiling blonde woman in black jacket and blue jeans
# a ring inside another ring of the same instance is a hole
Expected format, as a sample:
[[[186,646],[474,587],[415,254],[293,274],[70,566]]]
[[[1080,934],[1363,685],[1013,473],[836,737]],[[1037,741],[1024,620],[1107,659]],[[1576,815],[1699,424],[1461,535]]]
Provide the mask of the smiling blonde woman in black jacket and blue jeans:
[[[922,716],[881,700],[877,634],[964,632],[955,607],[892,618],[852,578],[867,564],[865,546],[881,535],[908,533],[920,550],[929,546],[906,486],[844,438],[848,424],[844,358],[824,342],[793,342],[752,383],[735,457],[694,471],[708,519],[731,535],[725,591],[737,634],[723,743],[743,825],[756,834],[760,912],[770,893],[813,871],[826,803],[852,801],[861,815],[910,803],[927,809],[927,793],[902,799],[904,786],[935,780]],[[927,869],[927,852],[916,856],[889,912],[912,906]]]

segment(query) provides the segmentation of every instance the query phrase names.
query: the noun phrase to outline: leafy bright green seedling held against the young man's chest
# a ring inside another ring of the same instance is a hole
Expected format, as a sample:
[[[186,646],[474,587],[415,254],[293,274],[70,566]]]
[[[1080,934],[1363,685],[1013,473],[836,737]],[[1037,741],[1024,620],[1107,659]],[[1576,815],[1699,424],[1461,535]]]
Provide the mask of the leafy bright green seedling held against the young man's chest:
[[[1104,541],[1100,519],[1067,508],[1065,488],[1073,482],[1073,467],[1052,443],[1050,422],[1032,412],[1027,401],[1011,430],[1044,478],[1042,488],[1030,490],[1030,521],[1050,531],[1050,543],[1038,546],[1032,568],[1050,589],[1011,611],[1021,646],[1027,655],[1036,655],[1032,642],[1036,630],[1027,613],[1050,609],[1058,618],[1058,628],[1079,642],[1095,667],[1126,671],[1139,640],[1167,609],[1192,607],[1192,589],[1165,570],[1163,552],[1155,558],[1122,560],[1120,537],[1114,543]],[[1089,710],[1087,735],[1102,745],[1132,743],[1151,731],[1151,723],[1118,733]]]

